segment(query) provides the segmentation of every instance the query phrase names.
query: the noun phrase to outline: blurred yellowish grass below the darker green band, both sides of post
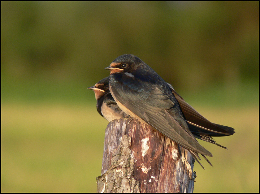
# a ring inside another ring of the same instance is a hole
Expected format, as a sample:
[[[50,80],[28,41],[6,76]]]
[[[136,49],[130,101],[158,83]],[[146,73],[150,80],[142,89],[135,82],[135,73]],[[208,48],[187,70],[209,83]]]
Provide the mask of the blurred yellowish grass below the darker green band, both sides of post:
[[[228,150],[200,141],[214,167],[195,162],[194,192],[258,192],[258,106],[196,109],[236,133],[215,138]],[[94,103],[2,102],[1,111],[2,192],[96,192],[108,122]]]

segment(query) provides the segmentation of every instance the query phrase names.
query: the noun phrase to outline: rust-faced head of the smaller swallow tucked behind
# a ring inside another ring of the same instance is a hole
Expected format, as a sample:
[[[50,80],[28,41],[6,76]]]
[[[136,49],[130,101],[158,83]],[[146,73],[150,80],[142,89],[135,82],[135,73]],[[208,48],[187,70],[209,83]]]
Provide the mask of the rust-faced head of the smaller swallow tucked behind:
[[[98,100],[102,96],[104,96],[106,93],[109,93],[109,77],[106,77],[102,80],[100,80],[98,83],[96,83],[94,86],[89,87],[88,89],[91,89],[95,93],[95,98]]]

